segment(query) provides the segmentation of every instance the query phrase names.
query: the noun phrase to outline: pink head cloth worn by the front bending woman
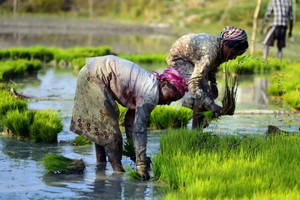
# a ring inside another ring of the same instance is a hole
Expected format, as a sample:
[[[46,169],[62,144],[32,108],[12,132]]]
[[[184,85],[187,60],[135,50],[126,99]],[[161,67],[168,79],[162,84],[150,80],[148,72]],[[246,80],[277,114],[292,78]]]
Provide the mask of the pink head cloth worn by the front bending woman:
[[[185,92],[188,91],[188,86],[186,84],[184,76],[177,68],[168,67],[164,70],[164,72],[161,75],[159,75],[157,72],[152,72],[152,74],[156,77],[156,79],[159,82],[166,80],[172,85],[174,85],[181,97],[183,97]]]

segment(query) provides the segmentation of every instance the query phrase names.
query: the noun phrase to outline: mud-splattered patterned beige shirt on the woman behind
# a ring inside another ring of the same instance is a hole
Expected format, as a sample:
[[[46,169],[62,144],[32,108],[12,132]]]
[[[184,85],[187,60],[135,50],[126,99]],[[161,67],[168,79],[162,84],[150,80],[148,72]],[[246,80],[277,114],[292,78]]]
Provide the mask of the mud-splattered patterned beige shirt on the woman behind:
[[[223,62],[221,41],[221,37],[205,33],[187,34],[172,45],[167,57],[168,65],[184,74],[190,93],[205,106],[213,102],[208,81],[216,83],[216,73]]]

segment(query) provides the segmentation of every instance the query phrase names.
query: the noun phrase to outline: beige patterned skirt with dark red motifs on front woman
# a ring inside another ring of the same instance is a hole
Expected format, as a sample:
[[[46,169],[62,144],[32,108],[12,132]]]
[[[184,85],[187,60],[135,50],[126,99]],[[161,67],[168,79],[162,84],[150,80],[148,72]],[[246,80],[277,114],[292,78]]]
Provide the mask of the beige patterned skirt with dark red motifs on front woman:
[[[109,89],[96,82],[86,66],[78,74],[70,130],[111,149],[122,141],[118,105]]]

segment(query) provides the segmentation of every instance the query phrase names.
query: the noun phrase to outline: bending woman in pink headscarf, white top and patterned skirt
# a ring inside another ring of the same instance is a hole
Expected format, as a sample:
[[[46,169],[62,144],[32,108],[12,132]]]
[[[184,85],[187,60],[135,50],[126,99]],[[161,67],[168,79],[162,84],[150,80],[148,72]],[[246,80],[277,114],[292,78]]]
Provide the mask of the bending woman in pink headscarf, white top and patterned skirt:
[[[127,107],[126,136],[133,140],[136,169],[149,179],[146,146],[151,111],[180,99],[186,91],[186,81],[176,68],[159,75],[117,56],[87,58],[78,73],[70,130],[95,142],[97,163],[106,163],[107,156],[113,171],[124,172],[117,103]]]

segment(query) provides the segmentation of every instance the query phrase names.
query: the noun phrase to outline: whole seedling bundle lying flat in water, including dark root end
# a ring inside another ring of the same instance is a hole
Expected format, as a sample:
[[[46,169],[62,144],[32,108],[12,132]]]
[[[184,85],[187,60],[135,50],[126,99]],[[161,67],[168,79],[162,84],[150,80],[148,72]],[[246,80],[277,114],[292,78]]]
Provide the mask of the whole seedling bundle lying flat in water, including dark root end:
[[[58,154],[48,154],[43,158],[48,173],[83,173],[85,164],[82,159],[70,159]]]

